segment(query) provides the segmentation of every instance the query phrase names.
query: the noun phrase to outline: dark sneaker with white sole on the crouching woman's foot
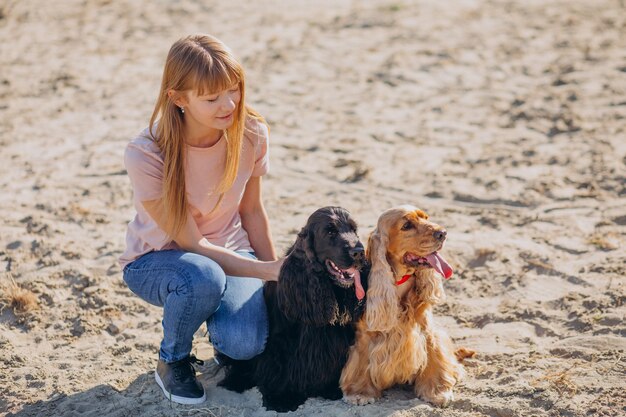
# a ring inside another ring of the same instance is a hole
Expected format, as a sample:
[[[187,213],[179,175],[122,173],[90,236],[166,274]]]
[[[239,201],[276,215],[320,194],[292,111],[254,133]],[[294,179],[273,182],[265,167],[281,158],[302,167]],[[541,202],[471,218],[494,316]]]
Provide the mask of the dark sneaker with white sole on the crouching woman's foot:
[[[193,355],[171,363],[159,359],[154,379],[167,399],[179,404],[200,404],[206,401],[204,388],[196,378],[194,363],[204,364]]]

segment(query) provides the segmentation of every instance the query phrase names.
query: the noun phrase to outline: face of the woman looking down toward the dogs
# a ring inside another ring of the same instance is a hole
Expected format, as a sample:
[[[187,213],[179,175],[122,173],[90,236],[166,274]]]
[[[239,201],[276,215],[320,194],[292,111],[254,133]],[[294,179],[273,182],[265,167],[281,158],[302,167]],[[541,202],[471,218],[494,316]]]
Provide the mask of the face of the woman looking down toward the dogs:
[[[216,130],[228,129],[235,119],[235,110],[241,100],[239,84],[215,94],[197,95],[187,92],[185,120]]]

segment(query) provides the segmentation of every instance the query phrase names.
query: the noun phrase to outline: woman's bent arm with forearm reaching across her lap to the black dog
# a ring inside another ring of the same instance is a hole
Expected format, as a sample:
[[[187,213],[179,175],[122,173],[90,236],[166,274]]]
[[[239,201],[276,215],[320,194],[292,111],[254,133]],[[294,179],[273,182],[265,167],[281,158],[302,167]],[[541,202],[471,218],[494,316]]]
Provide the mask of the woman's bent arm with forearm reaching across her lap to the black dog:
[[[164,229],[165,221],[161,200],[142,201],[146,211],[159,227]],[[178,232],[174,241],[181,249],[204,255],[217,262],[227,275],[257,277],[266,281],[278,279],[282,261],[263,262],[246,258],[231,250],[211,244],[198,230],[191,213],[187,214],[185,226]]]

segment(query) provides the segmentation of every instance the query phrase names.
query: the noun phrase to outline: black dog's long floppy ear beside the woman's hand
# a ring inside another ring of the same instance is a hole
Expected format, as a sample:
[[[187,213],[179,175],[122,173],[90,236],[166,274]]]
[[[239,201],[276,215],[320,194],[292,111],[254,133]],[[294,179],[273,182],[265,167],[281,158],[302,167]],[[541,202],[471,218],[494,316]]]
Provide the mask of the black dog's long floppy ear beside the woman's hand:
[[[291,321],[314,326],[332,323],[339,314],[332,283],[303,261],[296,256],[285,260],[278,282],[278,305]]]

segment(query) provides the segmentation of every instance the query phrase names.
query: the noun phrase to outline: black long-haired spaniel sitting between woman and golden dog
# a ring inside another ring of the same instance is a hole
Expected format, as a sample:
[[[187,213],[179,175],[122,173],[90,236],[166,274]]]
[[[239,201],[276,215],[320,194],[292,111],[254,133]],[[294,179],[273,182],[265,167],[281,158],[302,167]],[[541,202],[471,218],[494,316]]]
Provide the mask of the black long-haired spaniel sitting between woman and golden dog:
[[[263,405],[280,412],[297,409],[309,397],[341,398],[339,377],[365,307],[367,280],[360,277],[368,270],[348,212],[325,207],[313,213],[289,249],[278,282],[265,284],[265,351],[249,361],[231,361],[219,385],[237,392],[257,385]]]

